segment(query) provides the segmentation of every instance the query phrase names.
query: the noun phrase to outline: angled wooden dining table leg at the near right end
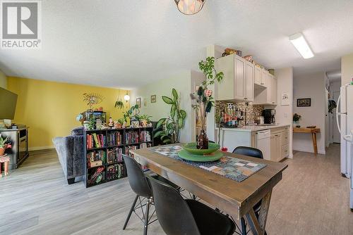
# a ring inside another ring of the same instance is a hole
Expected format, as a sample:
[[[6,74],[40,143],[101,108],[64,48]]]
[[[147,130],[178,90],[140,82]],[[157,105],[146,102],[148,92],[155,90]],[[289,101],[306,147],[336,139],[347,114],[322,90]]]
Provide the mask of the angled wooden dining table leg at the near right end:
[[[258,218],[253,211],[253,208],[246,213],[245,218],[246,222],[249,224],[249,227],[253,235],[263,235],[265,234],[266,221],[268,216],[268,209],[270,208],[272,190],[269,191],[262,199],[261,210],[258,213]]]

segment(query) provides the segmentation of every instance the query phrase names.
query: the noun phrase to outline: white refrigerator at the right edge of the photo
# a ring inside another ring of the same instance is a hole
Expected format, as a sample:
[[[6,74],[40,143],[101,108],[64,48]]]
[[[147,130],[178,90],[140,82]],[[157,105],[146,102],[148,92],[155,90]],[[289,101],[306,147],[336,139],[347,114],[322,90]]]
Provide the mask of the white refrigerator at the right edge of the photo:
[[[338,109],[340,108],[340,109]],[[337,101],[337,126],[341,135],[341,173],[350,180],[350,208],[353,208],[353,152],[352,144],[347,141],[347,136],[353,129],[353,85],[346,84],[341,87]],[[340,121],[339,121],[340,120]],[[346,136],[346,138],[345,138]]]

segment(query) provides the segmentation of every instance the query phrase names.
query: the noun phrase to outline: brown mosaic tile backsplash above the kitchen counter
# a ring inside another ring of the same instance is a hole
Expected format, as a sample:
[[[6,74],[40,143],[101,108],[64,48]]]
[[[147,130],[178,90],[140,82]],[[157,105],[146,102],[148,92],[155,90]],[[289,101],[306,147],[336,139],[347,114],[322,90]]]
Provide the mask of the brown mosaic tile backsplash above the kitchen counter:
[[[224,112],[228,106],[228,103],[231,103],[231,102],[216,101],[215,115],[220,115],[220,113]],[[234,105],[237,106],[237,108],[239,108],[243,112],[245,112],[246,110],[246,122],[248,124],[255,122],[256,117],[261,116],[262,111],[264,109],[264,106],[257,106],[257,105],[253,105],[252,103],[249,103],[248,106],[246,106],[246,103],[234,103]],[[246,125],[245,120],[241,121],[239,124]]]

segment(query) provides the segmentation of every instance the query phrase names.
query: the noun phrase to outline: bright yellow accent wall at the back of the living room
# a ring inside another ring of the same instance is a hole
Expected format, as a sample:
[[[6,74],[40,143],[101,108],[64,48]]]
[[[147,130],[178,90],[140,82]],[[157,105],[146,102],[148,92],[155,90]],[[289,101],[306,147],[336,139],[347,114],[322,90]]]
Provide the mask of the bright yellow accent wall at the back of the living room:
[[[104,96],[102,106],[113,120],[122,118],[122,112],[114,108],[116,99],[124,100],[126,91],[79,84],[48,82],[19,77],[8,77],[7,88],[18,94],[15,119],[29,129],[29,148],[32,150],[51,148],[55,136],[68,136],[71,129],[79,127],[76,115],[88,109],[83,93],[95,92]]]

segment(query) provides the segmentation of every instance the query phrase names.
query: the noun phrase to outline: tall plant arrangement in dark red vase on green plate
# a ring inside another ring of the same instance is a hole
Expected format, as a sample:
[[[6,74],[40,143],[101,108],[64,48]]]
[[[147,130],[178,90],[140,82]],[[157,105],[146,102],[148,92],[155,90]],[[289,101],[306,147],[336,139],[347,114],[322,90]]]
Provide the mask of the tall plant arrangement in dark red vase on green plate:
[[[215,69],[215,58],[208,57],[205,61],[200,61],[198,67],[205,75],[205,80],[202,82],[196,93],[192,93],[191,99],[193,103],[193,110],[195,110],[196,117],[201,123],[201,131],[198,134],[196,148],[207,149],[208,148],[208,137],[206,134],[206,121],[207,115],[215,106],[215,100],[213,99],[213,91],[208,89],[209,85],[215,84],[215,82],[221,82],[224,74],[223,72],[217,72]]]

